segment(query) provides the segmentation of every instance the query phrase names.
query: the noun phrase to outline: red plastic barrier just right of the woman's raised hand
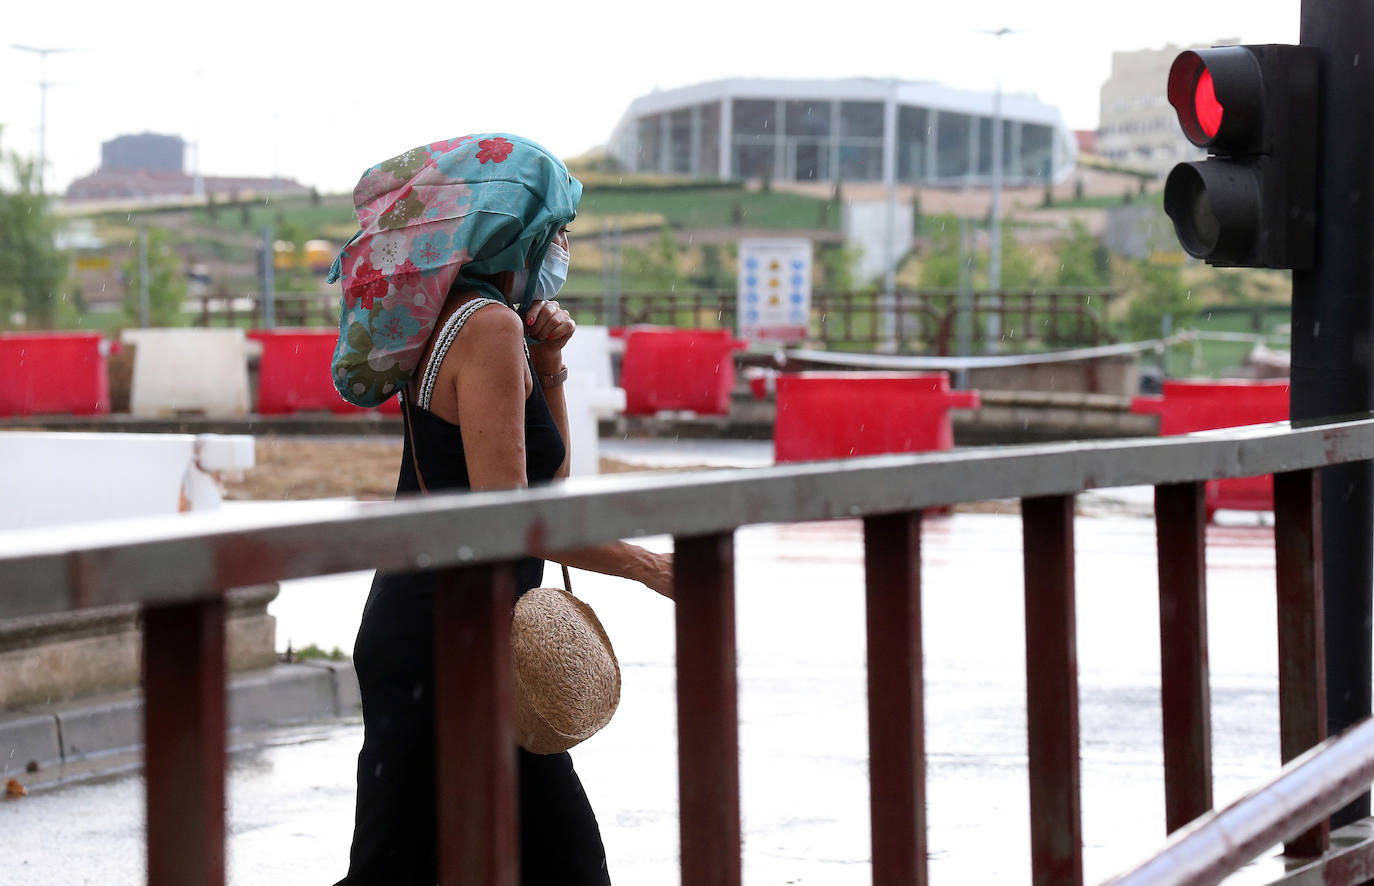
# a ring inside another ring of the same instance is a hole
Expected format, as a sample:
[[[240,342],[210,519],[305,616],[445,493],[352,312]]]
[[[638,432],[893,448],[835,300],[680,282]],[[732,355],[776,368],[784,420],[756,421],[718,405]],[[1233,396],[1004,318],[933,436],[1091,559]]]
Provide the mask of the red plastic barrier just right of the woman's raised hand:
[[[620,364],[625,415],[728,415],[741,346],[728,330],[629,330]]]

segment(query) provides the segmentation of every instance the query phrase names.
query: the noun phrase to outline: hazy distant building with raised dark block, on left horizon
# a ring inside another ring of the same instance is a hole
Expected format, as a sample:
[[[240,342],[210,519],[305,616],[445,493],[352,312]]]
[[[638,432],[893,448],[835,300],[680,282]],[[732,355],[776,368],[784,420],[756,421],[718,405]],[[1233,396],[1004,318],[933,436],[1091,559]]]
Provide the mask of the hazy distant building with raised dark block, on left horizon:
[[[100,169],[67,188],[69,201],[157,201],[195,196],[195,177],[184,172],[185,141],[150,132],[118,136],[100,146]],[[202,176],[201,194],[227,198],[242,194],[306,194],[293,179]]]

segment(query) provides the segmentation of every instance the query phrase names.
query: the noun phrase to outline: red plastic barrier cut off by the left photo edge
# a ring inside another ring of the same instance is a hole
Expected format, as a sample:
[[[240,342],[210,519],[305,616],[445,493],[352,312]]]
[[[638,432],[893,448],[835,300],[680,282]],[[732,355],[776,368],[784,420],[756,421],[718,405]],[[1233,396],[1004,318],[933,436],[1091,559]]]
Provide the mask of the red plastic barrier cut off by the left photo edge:
[[[110,374],[99,332],[0,334],[0,415],[104,415]]]

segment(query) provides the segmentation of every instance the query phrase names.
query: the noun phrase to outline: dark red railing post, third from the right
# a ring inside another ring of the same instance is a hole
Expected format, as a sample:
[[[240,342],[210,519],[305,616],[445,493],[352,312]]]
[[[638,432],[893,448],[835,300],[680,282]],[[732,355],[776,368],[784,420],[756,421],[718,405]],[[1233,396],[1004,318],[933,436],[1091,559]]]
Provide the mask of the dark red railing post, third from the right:
[[[1021,501],[1030,882],[1083,886],[1073,496]]]

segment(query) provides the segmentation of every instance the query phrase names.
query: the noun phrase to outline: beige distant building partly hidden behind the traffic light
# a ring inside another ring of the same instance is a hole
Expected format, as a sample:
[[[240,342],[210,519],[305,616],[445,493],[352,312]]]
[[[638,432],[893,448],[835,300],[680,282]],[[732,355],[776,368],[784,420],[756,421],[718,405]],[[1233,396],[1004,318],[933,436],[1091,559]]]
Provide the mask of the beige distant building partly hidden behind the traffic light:
[[[1205,47],[1168,45],[1112,54],[1112,76],[1099,93],[1099,157],[1162,177],[1175,163],[1205,155],[1183,137],[1167,96],[1169,66],[1175,56],[1184,49],[1201,48]]]

